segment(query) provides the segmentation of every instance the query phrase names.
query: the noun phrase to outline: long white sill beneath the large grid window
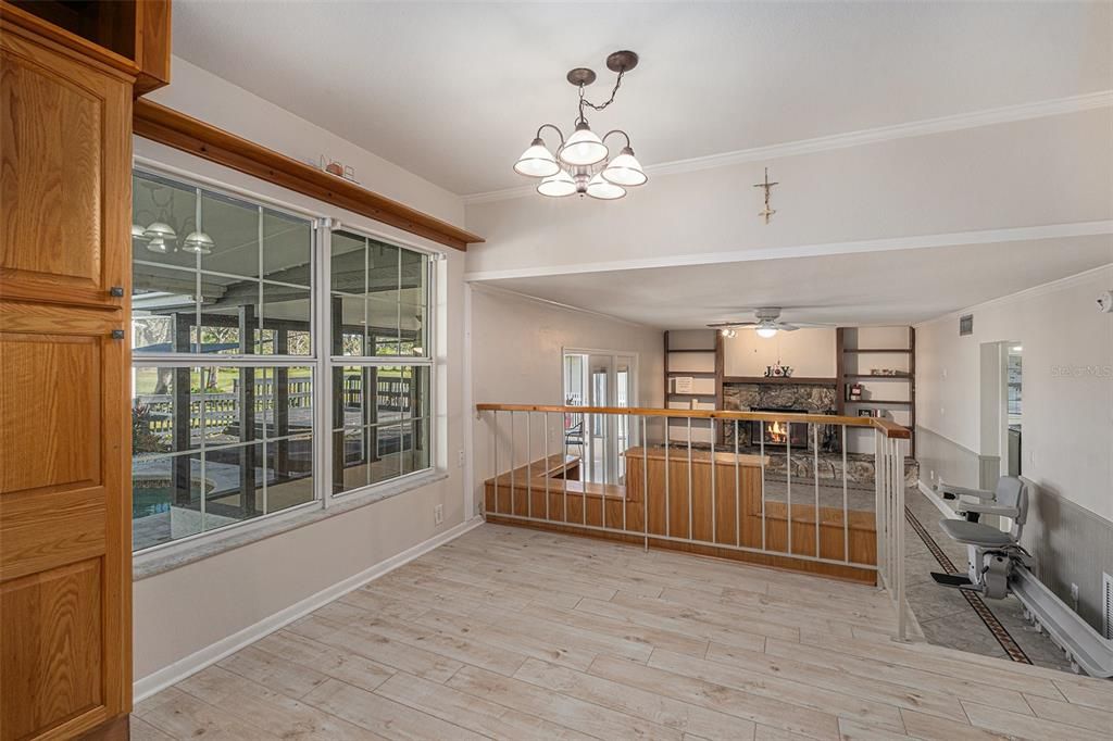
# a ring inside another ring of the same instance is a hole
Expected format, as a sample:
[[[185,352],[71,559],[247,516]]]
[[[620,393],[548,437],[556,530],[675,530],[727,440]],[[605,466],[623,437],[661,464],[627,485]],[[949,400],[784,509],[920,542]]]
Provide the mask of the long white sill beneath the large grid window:
[[[447,472],[432,468],[396,481],[386,482],[366,490],[342,494],[327,507],[321,502],[306,503],[289,512],[282,512],[242,525],[233,525],[226,530],[214,531],[209,535],[190,539],[181,543],[170,543],[162,547],[136,555],[131,561],[132,581],[141,581],[150,576],[180,569],[191,563],[209,559],[225,551],[243,547],[258,541],[280,535],[282,533],[305,525],[351,512],[375,502],[415,488],[429,486],[449,477]]]

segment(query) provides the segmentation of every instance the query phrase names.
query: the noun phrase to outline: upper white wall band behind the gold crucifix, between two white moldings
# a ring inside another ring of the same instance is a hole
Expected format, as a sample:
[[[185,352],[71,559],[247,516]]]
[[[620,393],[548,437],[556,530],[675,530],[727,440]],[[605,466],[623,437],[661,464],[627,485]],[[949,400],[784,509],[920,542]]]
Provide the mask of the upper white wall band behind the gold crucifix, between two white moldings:
[[[947,235],[1113,218],[1113,109],[673,175],[611,202],[536,196],[466,206],[486,244],[467,273]],[[648,156],[647,152],[641,152]],[[777,215],[751,187],[769,167]],[[559,248],[558,248],[559,246]],[[618,265],[611,269],[619,269]],[[870,276],[863,276],[869,290]]]

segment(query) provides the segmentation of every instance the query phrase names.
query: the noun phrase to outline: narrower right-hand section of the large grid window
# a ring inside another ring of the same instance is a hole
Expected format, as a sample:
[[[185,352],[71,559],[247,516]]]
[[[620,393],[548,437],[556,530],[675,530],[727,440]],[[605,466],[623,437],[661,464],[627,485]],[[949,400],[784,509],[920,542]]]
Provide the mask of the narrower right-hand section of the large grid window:
[[[430,466],[427,255],[332,233],[333,493]]]

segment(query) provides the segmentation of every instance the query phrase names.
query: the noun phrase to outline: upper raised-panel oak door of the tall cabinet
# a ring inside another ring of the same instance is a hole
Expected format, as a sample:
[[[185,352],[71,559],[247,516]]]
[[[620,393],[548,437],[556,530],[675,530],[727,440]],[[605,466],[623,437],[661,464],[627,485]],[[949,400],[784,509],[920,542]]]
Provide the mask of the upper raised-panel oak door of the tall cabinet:
[[[0,53],[0,295],[120,306],[129,88],[14,33]]]

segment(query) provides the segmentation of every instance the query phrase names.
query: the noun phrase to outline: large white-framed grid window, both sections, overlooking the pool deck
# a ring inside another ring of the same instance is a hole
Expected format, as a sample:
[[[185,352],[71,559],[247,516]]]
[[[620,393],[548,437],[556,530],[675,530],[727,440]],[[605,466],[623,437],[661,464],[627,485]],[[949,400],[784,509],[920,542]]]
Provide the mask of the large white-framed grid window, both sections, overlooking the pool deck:
[[[431,466],[427,255],[152,172],[132,186],[136,551]]]

